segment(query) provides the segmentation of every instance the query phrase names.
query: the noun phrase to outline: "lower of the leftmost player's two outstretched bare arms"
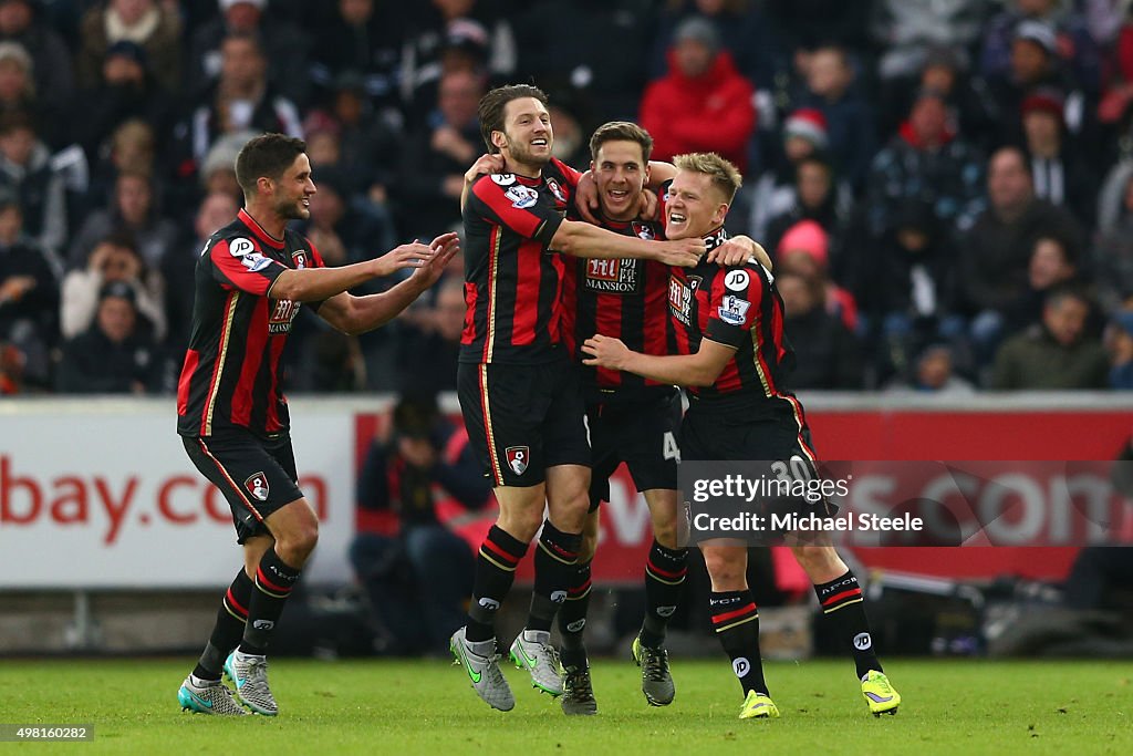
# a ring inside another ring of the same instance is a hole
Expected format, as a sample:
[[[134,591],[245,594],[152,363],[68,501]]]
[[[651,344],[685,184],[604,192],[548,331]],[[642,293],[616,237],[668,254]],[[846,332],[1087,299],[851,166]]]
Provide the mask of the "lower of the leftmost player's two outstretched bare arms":
[[[423,245],[418,245],[423,246]],[[342,292],[331,297],[318,308],[318,315],[334,329],[349,335],[385,325],[408,307],[425,289],[436,283],[444,266],[460,252],[455,233],[443,233],[428,246],[433,254],[408,279],[382,294],[356,297]]]

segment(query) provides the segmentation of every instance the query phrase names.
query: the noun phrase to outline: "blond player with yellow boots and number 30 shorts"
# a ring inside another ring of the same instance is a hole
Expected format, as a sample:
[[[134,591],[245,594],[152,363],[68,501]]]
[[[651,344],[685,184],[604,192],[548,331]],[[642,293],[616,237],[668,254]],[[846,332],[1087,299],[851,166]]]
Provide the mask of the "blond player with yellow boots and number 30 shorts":
[[[724,220],[740,187],[739,171],[714,153],[679,155],[674,162],[666,235],[718,246],[727,238]],[[793,352],[783,334],[783,300],[770,272],[755,262],[674,267],[668,307],[675,354],[642,354],[616,338],[595,334],[582,345],[586,364],[685,387],[689,410],[679,436],[684,460],[790,460],[813,474],[802,406],[783,389]],[[702,550],[712,578],[713,625],[746,696],[740,719],[778,716],[759,656],[759,613],[747,584],[747,546],[709,541]],[[870,711],[896,713],[901,696],[874,649],[858,578],[828,541],[792,546],[792,552],[815,585],[824,620],[853,654]]]

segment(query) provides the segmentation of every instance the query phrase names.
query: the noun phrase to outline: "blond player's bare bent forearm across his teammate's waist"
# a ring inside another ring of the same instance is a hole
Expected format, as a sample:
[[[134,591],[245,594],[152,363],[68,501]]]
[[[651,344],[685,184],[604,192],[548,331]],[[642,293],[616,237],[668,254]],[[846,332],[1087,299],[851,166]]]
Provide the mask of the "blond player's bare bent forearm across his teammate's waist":
[[[735,354],[735,347],[701,339],[695,355],[642,355],[620,339],[595,334],[582,343],[583,365],[634,373],[658,383],[712,385]]]

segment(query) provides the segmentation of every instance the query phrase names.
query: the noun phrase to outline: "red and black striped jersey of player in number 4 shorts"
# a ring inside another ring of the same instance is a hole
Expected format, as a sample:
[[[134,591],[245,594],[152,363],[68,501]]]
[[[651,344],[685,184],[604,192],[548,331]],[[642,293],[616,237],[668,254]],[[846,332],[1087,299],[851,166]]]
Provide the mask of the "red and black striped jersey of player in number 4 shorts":
[[[664,239],[650,221],[604,221],[603,228],[641,239]],[[563,277],[563,341],[577,360],[595,333],[621,339],[633,351],[668,354],[668,266],[653,260],[568,260]],[[633,373],[582,367],[588,401],[648,398],[672,391]]]

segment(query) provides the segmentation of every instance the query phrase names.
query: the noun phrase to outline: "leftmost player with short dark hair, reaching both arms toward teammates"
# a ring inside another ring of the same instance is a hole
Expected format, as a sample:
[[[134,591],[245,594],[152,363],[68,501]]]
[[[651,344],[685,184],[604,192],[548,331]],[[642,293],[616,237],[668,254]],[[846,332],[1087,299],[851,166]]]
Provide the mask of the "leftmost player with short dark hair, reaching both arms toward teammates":
[[[318,540],[318,520],[299,490],[280,356],[306,304],[344,333],[375,329],[440,278],[459,250],[455,233],[407,244],[342,267],[325,267],[308,239],[287,228],[310,215],[315,194],[303,141],[250,139],[236,160],[245,207],[208,239],[197,261],[193,329],[177,389],[177,432],[202,475],[232,509],[244,567],[224,594],[201,661],[177,698],[186,710],[244,715],[239,699],[278,713],[267,686],[272,630]],[[403,267],[389,291],[349,289]]]

